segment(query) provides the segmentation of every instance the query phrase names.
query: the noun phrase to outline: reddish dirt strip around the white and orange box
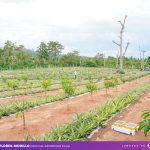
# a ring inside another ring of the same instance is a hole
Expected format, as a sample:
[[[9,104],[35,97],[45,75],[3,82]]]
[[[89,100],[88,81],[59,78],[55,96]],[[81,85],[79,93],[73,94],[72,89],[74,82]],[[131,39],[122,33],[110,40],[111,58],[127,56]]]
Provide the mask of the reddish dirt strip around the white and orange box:
[[[142,120],[141,114],[144,110],[150,109],[150,90],[144,93],[140,99],[131,104],[126,110],[118,114],[109,121],[107,127],[96,133],[90,141],[150,141],[150,134],[144,136],[143,132],[138,132],[135,136],[122,134],[111,129],[111,125],[117,120],[138,123]]]

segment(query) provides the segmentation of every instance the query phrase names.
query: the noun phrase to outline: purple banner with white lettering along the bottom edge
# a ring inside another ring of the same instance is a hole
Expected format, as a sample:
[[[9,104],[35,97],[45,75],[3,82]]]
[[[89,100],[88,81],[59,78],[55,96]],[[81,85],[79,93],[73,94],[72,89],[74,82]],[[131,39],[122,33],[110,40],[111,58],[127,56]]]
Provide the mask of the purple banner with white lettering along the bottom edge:
[[[0,150],[150,150],[150,142],[0,142]]]

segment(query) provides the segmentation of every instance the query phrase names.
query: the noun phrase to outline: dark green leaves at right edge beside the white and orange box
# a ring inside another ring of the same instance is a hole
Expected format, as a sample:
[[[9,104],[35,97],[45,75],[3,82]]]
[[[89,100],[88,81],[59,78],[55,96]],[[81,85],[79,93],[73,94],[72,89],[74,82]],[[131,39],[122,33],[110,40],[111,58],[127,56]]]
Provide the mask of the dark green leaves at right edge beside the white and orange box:
[[[142,114],[142,117],[143,120],[139,122],[138,130],[141,131],[143,129],[144,135],[146,136],[150,131],[150,110],[145,110],[145,112]]]

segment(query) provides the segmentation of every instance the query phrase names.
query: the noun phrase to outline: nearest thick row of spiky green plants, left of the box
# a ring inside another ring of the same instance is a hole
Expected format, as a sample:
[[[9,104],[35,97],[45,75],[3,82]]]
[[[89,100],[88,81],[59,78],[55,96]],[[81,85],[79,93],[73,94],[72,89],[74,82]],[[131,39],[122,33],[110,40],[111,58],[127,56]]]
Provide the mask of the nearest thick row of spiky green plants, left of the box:
[[[26,138],[38,141],[78,141],[85,140],[87,136],[98,126],[120,111],[129,103],[137,100],[140,95],[150,88],[150,84],[145,84],[128,92],[116,96],[112,101],[99,105],[94,110],[77,115],[75,120],[63,126],[57,126],[47,134],[40,137]]]

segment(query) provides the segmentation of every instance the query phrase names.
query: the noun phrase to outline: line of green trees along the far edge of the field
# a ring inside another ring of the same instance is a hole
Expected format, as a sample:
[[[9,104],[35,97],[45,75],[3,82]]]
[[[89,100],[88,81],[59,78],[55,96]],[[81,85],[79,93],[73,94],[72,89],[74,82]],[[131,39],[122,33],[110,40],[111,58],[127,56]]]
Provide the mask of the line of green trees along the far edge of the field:
[[[41,42],[36,51],[28,50],[23,45],[12,41],[6,41],[0,48],[0,69],[23,69],[35,67],[117,67],[119,61],[115,57],[104,57],[97,53],[94,57],[81,56],[78,51],[73,50],[63,54],[64,46],[58,41]],[[150,57],[145,59],[150,66]],[[140,68],[140,59],[124,57],[124,67]]]

